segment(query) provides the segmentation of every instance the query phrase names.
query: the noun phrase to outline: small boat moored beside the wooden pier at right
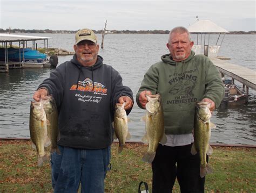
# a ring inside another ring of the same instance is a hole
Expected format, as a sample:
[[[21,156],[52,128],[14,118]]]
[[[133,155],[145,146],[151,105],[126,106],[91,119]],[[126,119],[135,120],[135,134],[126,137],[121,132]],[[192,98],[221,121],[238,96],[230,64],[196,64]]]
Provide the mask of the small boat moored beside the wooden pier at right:
[[[236,106],[245,104],[247,101],[247,95],[244,94],[237,85],[233,84],[231,80],[225,80],[225,96],[221,105]]]

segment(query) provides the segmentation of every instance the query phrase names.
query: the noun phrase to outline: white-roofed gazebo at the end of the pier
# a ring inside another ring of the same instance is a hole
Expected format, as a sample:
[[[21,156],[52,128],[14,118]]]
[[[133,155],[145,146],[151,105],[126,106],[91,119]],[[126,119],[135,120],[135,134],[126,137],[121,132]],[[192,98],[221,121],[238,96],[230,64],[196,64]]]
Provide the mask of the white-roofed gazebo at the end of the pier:
[[[210,20],[197,20],[196,23],[187,27],[187,30],[191,34],[197,34],[197,42],[192,48],[193,51],[196,52],[196,54],[204,54],[206,56],[211,56],[211,57],[217,57],[219,48],[223,42],[225,34],[229,33],[227,30],[211,22]],[[215,45],[210,44],[210,34],[214,34],[214,35],[219,34]],[[221,34],[224,34],[224,35],[222,40],[219,42]],[[208,35],[208,42],[206,40],[207,35]],[[199,39],[199,36],[200,36],[200,39]],[[199,40],[200,40],[200,45],[199,45]],[[202,49],[203,49],[203,52],[202,52]]]

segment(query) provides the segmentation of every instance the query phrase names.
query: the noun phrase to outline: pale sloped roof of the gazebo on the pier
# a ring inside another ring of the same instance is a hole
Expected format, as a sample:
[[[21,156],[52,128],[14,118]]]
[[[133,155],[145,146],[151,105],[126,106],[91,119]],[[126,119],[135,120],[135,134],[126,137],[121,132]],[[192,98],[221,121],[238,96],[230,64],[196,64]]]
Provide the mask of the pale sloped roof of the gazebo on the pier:
[[[190,33],[229,33],[224,28],[214,24],[210,20],[198,20],[196,23],[187,27]]]

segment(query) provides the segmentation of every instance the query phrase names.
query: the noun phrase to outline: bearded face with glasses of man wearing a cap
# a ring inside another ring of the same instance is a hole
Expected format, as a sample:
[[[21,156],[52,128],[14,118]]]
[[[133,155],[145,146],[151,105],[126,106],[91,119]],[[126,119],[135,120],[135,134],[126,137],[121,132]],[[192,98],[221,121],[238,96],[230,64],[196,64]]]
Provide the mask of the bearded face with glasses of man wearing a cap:
[[[74,45],[74,50],[77,55],[77,60],[82,63],[83,66],[92,66],[97,61],[99,45],[90,41],[83,40],[77,45]]]

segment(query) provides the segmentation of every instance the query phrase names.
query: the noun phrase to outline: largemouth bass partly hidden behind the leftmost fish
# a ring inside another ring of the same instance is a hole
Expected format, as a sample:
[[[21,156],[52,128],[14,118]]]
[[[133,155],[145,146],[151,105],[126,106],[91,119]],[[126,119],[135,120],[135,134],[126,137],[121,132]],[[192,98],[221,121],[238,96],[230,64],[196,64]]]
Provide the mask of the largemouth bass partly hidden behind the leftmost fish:
[[[58,110],[55,99],[52,97],[52,95],[46,96],[43,99],[43,106],[46,113],[46,118],[49,122],[47,125],[47,135],[51,141],[51,153],[57,152],[58,154],[60,154],[59,148],[57,146],[57,141],[59,137]]]

